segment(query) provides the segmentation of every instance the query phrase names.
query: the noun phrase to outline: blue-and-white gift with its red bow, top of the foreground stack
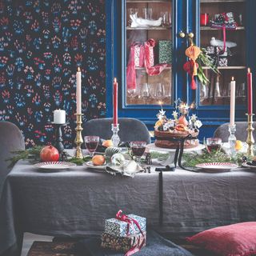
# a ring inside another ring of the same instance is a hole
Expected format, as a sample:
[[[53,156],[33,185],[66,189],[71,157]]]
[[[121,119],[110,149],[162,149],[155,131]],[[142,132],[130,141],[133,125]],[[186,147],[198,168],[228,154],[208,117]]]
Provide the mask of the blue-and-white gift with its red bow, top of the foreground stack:
[[[116,218],[108,218],[105,222],[105,232],[119,237],[139,234],[146,231],[146,218],[135,214],[122,214],[119,210]]]

